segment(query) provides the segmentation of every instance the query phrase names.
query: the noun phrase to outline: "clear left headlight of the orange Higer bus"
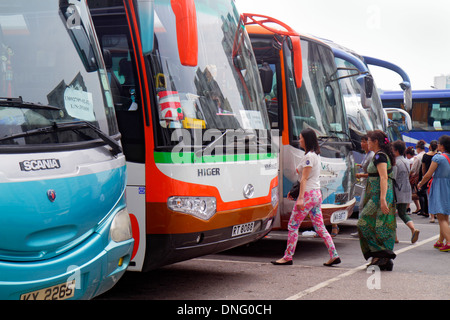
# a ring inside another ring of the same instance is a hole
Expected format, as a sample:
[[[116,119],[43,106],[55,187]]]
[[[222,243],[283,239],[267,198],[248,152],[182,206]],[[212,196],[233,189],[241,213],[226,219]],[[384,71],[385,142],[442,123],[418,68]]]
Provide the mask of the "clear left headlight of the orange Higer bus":
[[[170,210],[187,213],[202,220],[209,220],[216,213],[214,197],[170,197],[167,200]]]

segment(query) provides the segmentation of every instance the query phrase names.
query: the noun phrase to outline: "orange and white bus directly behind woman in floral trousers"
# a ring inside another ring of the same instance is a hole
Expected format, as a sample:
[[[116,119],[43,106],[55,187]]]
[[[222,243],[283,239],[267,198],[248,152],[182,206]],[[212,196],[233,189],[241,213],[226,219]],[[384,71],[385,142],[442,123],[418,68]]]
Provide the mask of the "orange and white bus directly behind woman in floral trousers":
[[[320,184],[326,225],[339,224],[353,213],[354,159],[345,106],[333,52],[312,36],[300,35],[272,17],[244,13],[256,60],[264,70],[270,124],[280,134],[280,205],[274,228],[287,228],[294,201],[287,198],[298,179],[296,167],[304,156],[299,134],[313,129],[319,139]],[[307,217],[302,228],[312,227]]]

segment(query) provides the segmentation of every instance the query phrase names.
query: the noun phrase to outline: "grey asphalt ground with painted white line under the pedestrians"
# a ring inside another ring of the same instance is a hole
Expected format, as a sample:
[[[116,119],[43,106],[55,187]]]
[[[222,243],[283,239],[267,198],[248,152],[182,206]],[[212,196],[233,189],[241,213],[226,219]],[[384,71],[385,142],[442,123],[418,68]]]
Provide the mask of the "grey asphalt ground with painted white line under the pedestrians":
[[[342,263],[324,267],[328,252],[320,238],[300,237],[292,266],[273,266],[282,256],[285,231],[220,254],[173,264],[148,273],[127,272],[97,299],[134,300],[423,300],[450,299],[450,252],[433,248],[439,225],[412,215],[421,230],[417,243],[397,219],[397,258],[392,272],[367,270],[356,219],[334,238]]]

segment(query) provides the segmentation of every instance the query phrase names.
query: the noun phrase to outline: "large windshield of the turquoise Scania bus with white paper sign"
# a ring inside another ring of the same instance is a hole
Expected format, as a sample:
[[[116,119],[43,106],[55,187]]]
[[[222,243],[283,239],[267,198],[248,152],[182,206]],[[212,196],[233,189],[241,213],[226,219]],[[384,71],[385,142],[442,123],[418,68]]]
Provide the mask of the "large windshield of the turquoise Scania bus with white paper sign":
[[[82,148],[118,135],[85,2],[4,0],[0,12],[0,147]]]

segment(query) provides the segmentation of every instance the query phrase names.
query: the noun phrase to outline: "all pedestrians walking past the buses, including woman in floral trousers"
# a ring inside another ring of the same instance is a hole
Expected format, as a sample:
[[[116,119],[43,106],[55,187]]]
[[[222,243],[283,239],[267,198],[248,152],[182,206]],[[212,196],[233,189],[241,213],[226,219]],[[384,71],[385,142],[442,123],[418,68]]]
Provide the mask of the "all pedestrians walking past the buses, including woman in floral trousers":
[[[305,149],[305,157],[297,168],[300,191],[288,226],[288,244],[283,258],[272,263],[292,264],[298,229],[309,214],[328,248],[330,259],[324,265],[339,264],[341,259],[322,218],[320,148],[314,131],[302,131],[300,145]],[[424,140],[414,150],[406,148],[403,141],[391,142],[383,131],[374,130],[363,137],[361,145],[366,154],[357,178],[364,178],[365,190],[359,205],[357,229],[362,254],[366,260],[371,259],[369,266],[393,269],[394,244],[398,242],[396,213],[411,230],[411,243],[418,240],[420,230],[410,217],[412,202],[417,209],[414,214],[429,217],[431,223],[436,219],[439,222],[439,240],[434,247],[450,251],[450,136],[431,141],[426,151]]]

